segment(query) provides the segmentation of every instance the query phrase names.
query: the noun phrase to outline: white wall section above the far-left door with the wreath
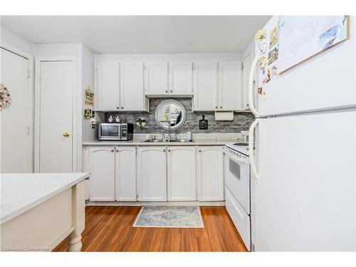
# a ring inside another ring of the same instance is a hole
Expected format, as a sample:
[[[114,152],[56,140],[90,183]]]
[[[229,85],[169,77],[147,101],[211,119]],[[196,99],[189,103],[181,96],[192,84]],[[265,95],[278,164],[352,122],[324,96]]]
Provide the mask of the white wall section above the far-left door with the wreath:
[[[0,27],[0,32],[1,46],[6,45],[18,51],[27,53],[28,55],[33,55],[33,43],[4,27]]]

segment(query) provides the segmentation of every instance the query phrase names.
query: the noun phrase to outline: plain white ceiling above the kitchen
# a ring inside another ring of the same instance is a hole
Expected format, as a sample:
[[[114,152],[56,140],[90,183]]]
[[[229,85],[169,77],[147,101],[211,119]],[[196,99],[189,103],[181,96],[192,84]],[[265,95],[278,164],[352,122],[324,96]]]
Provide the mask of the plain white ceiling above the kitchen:
[[[1,16],[32,43],[83,43],[95,53],[241,52],[271,16]]]

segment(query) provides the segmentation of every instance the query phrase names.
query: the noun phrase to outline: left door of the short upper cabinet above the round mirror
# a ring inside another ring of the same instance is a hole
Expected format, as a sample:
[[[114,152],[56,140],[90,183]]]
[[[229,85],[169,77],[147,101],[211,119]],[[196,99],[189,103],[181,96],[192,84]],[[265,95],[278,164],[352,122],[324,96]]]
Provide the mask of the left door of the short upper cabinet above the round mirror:
[[[168,63],[145,63],[145,94],[168,95]]]

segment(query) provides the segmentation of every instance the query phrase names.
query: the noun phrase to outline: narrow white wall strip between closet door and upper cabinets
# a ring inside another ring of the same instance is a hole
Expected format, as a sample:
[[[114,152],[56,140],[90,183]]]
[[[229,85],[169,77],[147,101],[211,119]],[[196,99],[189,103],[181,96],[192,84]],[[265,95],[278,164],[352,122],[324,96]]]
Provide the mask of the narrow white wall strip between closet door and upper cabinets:
[[[86,46],[83,46],[83,53],[82,53],[82,70],[83,70],[83,83],[82,83],[82,89],[83,89],[83,97],[82,97],[82,103],[83,103],[83,108],[82,108],[82,114],[84,114],[85,108],[89,108],[90,110],[93,110],[94,107],[90,107],[87,105],[84,105],[84,93],[85,93],[85,88],[87,86],[90,86],[91,90],[94,91],[94,53]],[[97,127],[95,129],[92,129],[91,123],[92,120],[85,120],[83,118],[83,124],[82,124],[82,137],[83,141],[93,141],[97,140],[97,135],[96,132],[98,130]]]

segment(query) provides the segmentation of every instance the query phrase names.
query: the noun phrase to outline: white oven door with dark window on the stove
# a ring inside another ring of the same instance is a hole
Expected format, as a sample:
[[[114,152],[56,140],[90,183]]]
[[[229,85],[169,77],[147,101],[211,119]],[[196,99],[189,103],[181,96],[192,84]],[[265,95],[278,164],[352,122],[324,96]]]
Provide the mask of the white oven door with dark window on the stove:
[[[241,205],[246,214],[250,214],[250,164],[248,157],[236,157],[231,152],[224,152],[225,184]]]

